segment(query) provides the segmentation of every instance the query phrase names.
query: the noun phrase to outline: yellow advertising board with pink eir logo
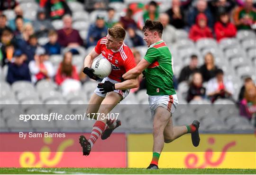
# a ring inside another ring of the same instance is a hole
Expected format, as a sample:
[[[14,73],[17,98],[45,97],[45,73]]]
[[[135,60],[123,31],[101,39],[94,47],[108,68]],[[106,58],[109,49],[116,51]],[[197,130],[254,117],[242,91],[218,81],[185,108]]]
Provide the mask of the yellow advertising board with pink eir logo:
[[[186,134],[165,143],[159,159],[160,168],[254,168],[256,137],[254,134],[201,134],[193,147]],[[145,168],[152,159],[152,134],[128,135],[128,167]]]

